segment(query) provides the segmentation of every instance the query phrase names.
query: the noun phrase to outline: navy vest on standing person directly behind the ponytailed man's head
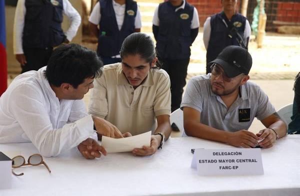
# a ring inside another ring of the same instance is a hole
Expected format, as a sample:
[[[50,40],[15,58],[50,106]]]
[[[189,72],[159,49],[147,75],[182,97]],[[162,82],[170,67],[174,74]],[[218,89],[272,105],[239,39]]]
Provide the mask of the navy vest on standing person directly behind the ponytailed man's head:
[[[134,32],[134,21],[137,4],[133,0],[126,0],[124,21],[121,29],[117,27],[112,0],[100,0],[98,56],[115,56],[119,54],[124,39]]]

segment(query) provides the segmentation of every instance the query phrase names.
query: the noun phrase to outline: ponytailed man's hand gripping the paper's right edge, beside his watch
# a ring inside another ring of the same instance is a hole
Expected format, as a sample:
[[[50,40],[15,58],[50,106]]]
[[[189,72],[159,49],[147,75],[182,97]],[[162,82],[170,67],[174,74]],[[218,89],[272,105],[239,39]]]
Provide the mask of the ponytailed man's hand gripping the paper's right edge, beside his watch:
[[[161,136],[160,135],[152,135],[150,147],[143,146],[142,148],[135,148],[132,150],[132,154],[134,156],[148,156],[152,155],[157,151],[157,148],[160,144]]]

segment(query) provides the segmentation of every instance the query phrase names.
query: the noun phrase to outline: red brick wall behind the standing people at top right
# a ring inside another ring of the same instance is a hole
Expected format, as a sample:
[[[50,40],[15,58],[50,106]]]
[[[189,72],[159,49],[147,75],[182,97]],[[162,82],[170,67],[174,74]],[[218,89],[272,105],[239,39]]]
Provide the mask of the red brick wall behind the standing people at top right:
[[[221,11],[221,0],[187,0],[196,7],[199,14],[200,26],[203,26],[205,19]],[[237,11],[240,10],[238,0]],[[247,18],[251,24],[253,10],[257,4],[256,0],[248,0]],[[265,0],[265,12],[267,15],[266,31],[276,31],[282,22],[300,23],[300,0]],[[276,22],[274,22],[276,21]]]

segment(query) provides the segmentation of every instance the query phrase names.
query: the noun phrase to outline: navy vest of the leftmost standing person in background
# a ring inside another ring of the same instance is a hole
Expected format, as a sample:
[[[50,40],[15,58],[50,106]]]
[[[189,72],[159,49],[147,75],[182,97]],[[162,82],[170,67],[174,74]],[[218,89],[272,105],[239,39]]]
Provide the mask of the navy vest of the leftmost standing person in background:
[[[52,2],[52,3],[51,3]],[[23,47],[46,48],[64,40],[62,0],[25,0]]]

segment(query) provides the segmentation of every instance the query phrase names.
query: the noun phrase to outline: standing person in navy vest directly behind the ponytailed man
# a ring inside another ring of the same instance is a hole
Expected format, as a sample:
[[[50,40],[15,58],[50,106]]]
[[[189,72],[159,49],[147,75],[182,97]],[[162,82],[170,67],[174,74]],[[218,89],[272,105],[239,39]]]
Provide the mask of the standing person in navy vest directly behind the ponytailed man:
[[[98,37],[97,54],[104,65],[121,62],[119,51],[124,39],[140,32],[141,27],[138,6],[133,0],[99,0],[88,21],[90,31]]]

